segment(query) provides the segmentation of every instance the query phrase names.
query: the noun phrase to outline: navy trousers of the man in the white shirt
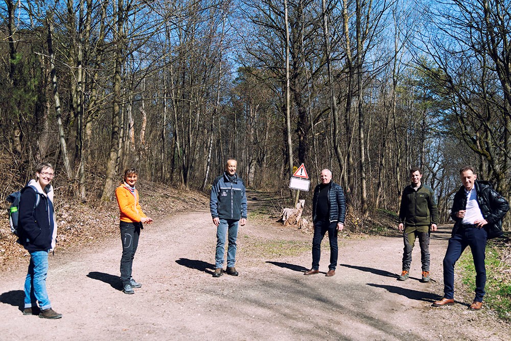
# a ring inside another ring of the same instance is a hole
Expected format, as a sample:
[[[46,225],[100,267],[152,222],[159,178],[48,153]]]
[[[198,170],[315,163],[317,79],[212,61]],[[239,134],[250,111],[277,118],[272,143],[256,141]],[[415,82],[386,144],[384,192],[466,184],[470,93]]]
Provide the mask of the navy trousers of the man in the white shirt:
[[[454,236],[449,239],[446,256],[444,257],[444,297],[454,298],[454,264],[470,246],[474,267],[476,270],[476,290],[474,301],[482,302],[484,285],[486,284],[486,268],[484,266],[487,234],[486,230],[476,227],[458,228]]]

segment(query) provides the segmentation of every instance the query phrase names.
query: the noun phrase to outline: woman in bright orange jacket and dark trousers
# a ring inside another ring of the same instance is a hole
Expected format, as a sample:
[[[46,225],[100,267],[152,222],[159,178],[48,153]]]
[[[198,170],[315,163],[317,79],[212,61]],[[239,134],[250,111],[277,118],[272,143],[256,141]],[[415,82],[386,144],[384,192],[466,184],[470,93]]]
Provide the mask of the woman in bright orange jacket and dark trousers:
[[[131,276],[133,266],[133,257],[138,246],[140,230],[143,229],[142,223],[150,224],[153,219],[146,216],[138,203],[138,192],[135,189],[137,180],[137,171],[135,168],[129,168],[124,171],[124,181],[115,190],[115,197],[121,211],[121,240],[123,243],[123,255],[121,257],[121,281],[123,292],[133,294],[133,288],[140,288],[142,284],[136,282]]]

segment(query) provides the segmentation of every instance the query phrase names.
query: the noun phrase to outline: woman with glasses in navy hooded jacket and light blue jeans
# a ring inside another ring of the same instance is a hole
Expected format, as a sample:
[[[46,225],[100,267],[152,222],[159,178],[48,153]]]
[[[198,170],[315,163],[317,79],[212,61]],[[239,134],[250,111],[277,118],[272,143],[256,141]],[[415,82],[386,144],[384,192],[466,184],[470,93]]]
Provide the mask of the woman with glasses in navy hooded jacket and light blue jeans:
[[[24,315],[36,314],[40,309],[42,319],[60,319],[62,314],[52,309],[46,278],[48,276],[48,254],[55,247],[57,223],[53,208],[53,187],[55,176],[49,163],[36,167],[35,179],[21,190],[19,200],[19,237],[30,253],[30,263],[25,280]],[[39,307],[37,306],[39,304]]]

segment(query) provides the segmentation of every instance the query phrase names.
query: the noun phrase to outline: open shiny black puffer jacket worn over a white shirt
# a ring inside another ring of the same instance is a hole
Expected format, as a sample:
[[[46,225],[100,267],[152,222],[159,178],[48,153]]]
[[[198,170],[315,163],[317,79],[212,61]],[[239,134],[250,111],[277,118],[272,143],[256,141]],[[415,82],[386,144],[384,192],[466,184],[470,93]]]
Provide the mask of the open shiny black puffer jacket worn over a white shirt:
[[[484,226],[488,233],[488,239],[502,236],[502,218],[509,211],[509,203],[502,195],[495,191],[489,181],[475,181],[477,191],[477,203],[481,213],[488,222]],[[452,229],[452,235],[456,233],[461,218],[456,217],[456,213],[467,207],[467,194],[465,188],[461,188],[454,195],[454,201],[451,209],[451,218],[455,221]]]

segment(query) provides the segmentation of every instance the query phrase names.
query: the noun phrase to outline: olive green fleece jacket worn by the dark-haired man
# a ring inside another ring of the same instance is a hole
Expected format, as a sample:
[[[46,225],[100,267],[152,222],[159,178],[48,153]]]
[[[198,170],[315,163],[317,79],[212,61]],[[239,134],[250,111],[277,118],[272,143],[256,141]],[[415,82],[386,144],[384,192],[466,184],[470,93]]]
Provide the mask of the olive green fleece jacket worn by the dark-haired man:
[[[433,190],[423,184],[417,191],[412,185],[405,187],[401,198],[399,220],[405,226],[438,224],[438,208]]]

